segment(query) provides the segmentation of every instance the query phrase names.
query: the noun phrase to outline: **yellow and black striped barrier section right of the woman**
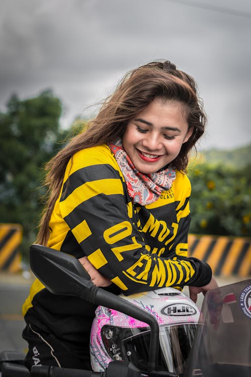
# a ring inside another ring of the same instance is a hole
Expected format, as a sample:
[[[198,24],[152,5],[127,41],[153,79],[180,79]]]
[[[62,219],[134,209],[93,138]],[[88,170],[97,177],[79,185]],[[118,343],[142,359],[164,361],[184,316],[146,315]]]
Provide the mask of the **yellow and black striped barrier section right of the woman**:
[[[207,262],[214,275],[251,275],[251,238],[188,236],[189,255]]]

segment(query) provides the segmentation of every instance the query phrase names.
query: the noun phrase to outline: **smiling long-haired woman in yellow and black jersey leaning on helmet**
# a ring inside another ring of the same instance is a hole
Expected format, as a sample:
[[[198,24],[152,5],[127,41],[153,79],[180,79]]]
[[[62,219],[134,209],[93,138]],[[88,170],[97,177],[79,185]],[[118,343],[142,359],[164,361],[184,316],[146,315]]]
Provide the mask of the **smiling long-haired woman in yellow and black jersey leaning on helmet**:
[[[88,128],[47,165],[51,195],[37,242],[80,259],[94,284],[130,295],[217,286],[187,257],[188,153],[206,116],[191,76],[169,61],[129,72]],[[51,295],[36,280],[23,306],[26,365],[90,368],[95,307]]]

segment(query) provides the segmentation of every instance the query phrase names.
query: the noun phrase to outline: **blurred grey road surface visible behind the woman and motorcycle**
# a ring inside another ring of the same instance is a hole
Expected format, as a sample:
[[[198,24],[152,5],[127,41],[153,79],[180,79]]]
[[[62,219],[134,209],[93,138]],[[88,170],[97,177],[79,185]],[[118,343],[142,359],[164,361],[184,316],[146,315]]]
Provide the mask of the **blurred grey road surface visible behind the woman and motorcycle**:
[[[238,276],[228,278],[216,277],[220,287],[236,281],[244,280]],[[0,350],[27,351],[27,343],[22,338],[25,322],[22,317],[22,305],[29,294],[33,277],[24,278],[20,275],[10,275],[0,272]],[[188,295],[185,288],[184,293]],[[200,308],[203,295],[198,297],[197,305]]]

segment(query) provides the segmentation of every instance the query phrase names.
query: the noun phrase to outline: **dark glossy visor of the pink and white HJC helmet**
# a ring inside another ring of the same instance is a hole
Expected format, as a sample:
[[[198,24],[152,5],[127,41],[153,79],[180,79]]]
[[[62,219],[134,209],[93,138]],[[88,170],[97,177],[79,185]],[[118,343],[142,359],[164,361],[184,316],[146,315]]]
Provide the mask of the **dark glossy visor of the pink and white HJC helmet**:
[[[196,327],[195,323],[160,326],[159,370],[177,374],[184,372]],[[102,339],[106,351],[113,359],[132,361],[141,371],[147,372],[150,344],[149,327],[104,326]]]

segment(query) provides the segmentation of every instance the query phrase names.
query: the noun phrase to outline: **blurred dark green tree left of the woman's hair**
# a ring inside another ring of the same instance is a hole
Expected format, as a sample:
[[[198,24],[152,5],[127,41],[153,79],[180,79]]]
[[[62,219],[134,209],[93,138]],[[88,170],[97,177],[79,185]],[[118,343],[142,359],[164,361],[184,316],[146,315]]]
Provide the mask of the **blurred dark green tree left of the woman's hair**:
[[[23,226],[24,255],[36,239],[42,211],[44,164],[62,147],[60,100],[51,90],[19,100],[13,95],[0,114],[0,222]]]

